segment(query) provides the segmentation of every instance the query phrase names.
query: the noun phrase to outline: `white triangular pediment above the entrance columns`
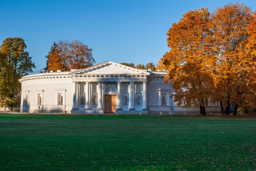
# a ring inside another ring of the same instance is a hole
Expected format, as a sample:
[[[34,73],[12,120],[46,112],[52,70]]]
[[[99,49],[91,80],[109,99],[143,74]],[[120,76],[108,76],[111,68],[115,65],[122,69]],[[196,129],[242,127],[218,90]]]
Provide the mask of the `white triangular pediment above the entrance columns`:
[[[71,75],[144,75],[148,76],[150,73],[140,69],[124,66],[120,63],[106,61],[99,63],[96,66],[91,66],[84,69],[79,69],[70,73]]]

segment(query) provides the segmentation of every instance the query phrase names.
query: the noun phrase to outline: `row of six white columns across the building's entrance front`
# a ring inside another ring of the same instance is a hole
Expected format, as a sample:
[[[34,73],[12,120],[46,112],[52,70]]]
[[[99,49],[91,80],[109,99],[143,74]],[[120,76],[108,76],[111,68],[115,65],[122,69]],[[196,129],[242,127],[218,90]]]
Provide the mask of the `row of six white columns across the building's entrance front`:
[[[106,82],[107,83],[107,82]],[[127,82],[126,82],[127,83]],[[91,82],[86,82],[85,86],[85,110],[91,110],[91,92],[90,92]],[[121,94],[122,82],[117,82],[117,99],[116,99],[116,110],[122,110]],[[135,110],[134,108],[134,81],[130,81],[130,90],[129,90],[129,110]],[[78,82],[73,82],[73,110],[78,110],[78,97],[80,91],[80,84]],[[98,82],[98,110],[103,110],[103,82]],[[143,81],[143,110],[148,110],[147,108],[147,82]]]

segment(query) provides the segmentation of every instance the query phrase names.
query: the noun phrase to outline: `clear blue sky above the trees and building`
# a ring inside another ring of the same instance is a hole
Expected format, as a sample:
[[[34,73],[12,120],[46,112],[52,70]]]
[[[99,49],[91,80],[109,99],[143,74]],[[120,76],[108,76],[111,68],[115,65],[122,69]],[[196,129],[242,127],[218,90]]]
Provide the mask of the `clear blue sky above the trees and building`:
[[[168,51],[165,35],[189,10],[213,11],[225,0],[0,0],[0,44],[24,38],[34,72],[46,66],[53,41],[79,40],[93,48],[96,63],[158,63]],[[238,0],[253,11],[255,0]]]

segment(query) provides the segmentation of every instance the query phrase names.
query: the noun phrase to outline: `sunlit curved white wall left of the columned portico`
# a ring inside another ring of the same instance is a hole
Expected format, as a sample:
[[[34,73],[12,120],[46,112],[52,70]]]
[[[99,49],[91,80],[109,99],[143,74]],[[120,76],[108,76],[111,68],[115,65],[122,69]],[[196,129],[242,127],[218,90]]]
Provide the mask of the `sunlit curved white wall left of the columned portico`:
[[[41,93],[41,105],[38,94]],[[63,105],[58,105],[58,93],[63,94]],[[29,95],[26,105],[26,94]],[[21,112],[70,113],[73,106],[73,83],[71,78],[46,78],[21,83]]]

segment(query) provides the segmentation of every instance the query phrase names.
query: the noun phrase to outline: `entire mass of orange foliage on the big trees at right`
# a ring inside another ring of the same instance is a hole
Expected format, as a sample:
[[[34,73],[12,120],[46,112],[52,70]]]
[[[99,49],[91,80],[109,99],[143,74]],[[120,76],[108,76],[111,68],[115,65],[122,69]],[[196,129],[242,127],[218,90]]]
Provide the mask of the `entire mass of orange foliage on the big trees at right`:
[[[165,80],[178,105],[204,107],[210,98],[222,102],[228,114],[230,104],[237,108],[256,100],[256,18],[250,8],[236,3],[213,14],[188,11],[167,35],[170,51],[158,68],[168,69]]]

